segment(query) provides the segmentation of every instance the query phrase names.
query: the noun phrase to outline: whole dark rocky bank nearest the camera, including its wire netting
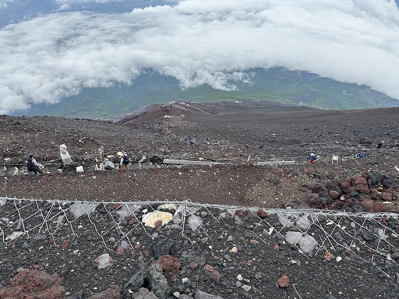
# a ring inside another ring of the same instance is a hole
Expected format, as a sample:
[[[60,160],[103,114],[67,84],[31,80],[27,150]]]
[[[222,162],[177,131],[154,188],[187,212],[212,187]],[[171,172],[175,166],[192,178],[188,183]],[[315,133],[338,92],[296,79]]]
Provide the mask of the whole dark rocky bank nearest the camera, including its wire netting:
[[[2,200],[0,298],[396,298],[399,291],[396,214]],[[152,227],[144,218],[154,210],[174,217]]]

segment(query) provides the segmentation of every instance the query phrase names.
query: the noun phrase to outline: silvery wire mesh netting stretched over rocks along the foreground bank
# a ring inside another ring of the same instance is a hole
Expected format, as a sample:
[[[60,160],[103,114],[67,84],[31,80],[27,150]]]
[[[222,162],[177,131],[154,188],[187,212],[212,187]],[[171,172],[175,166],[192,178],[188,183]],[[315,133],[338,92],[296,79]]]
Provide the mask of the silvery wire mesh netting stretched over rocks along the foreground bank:
[[[339,258],[339,253],[345,251],[365,261],[379,255],[396,263],[391,254],[399,243],[395,213],[259,209],[189,200],[96,202],[7,197],[0,197],[0,211],[0,234],[5,246],[17,237],[37,238],[43,234],[51,235],[54,245],[61,246],[64,236],[85,234],[90,228],[107,250],[110,235],[118,235],[117,242],[126,242],[133,248],[131,240],[138,228],[151,239],[163,227],[190,240],[191,232],[207,235],[209,225],[221,225],[226,219],[237,225],[250,219],[247,228],[259,242],[278,239],[309,258],[326,252],[335,252]]]

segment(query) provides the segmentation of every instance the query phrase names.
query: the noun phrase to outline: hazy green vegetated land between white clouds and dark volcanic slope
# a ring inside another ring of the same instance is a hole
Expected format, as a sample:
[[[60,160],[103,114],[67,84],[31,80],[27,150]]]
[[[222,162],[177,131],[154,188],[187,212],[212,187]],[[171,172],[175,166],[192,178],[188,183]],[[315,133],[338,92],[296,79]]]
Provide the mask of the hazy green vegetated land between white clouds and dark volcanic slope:
[[[56,105],[35,105],[28,115],[56,115],[79,118],[112,118],[132,114],[149,104],[240,101],[257,99],[319,109],[364,109],[399,106],[399,101],[370,87],[343,83],[316,74],[284,68],[256,68],[246,71],[252,84],[231,82],[236,91],[221,91],[209,85],[182,90],[173,77],[148,72],[132,85],[85,89]]]

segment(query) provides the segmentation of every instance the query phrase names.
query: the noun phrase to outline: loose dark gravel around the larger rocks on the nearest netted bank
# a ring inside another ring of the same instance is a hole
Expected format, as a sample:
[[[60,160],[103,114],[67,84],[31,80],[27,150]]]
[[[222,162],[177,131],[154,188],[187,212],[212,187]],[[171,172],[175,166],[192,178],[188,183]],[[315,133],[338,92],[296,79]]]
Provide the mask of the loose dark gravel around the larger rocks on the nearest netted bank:
[[[171,293],[187,296],[201,290],[222,298],[299,298],[296,287],[302,298],[397,298],[399,291],[399,221],[395,217],[370,218],[365,222],[357,219],[360,223],[355,224],[347,217],[318,216],[317,225],[311,226],[308,234],[325,239],[327,233],[329,241],[318,254],[313,255],[317,253],[315,249],[306,255],[282,238],[285,232],[297,229],[283,228],[276,214],[260,219],[251,211],[230,214],[199,207],[194,215],[201,219],[201,225],[194,230],[186,225],[181,235],[179,225],[151,228],[138,222],[142,211],[157,209],[156,204],[136,209],[135,216],[119,222],[120,228],[116,225],[119,205],[100,203],[89,216],[74,218],[68,211],[71,204],[62,204],[66,212],[60,228],[52,220],[44,229],[39,225],[43,218],[38,210],[47,216],[50,212],[49,218],[56,216],[60,210],[57,203],[11,200],[1,207],[7,218],[1,220],[6,236],[18,231],[15,206],[31,231],[30,237],[16,238],[1,247],[0,282],[4,286],[21,269],[34,268],[62,277],[66,298],[87,298],[112,285],[119,286],[124,298],[129,298],[129,289],[138,291],[129,285],[130,278],[159,261],[161,255],[170,254],[180,263],[179,271],[165,273]],[[32,219],[26,219],[29,216]],[[329,226],[329,222],[340,222],[342,229]],[[33,224],[39,226],[34,228]],[[270,226],[274,227],[273,237],[268,235]],[[367,229],[362,230],[361,226]],[[386,230],[389,243],[372,233],[384,226],[390,228]],[[42,232],[35,234],[39,227]],[[121,253],[121,242],[127,240],[129,245]],[[384,255],[373,255],[371,249],[377,247]],[[334,255],[330,261],[324,258],[326,249]],[[99,269],[94,260],[104,253],[115,263]],[[288,288],[276,286],[283,275],[289,278]],[[78,297],[82,294],[87,297]]]

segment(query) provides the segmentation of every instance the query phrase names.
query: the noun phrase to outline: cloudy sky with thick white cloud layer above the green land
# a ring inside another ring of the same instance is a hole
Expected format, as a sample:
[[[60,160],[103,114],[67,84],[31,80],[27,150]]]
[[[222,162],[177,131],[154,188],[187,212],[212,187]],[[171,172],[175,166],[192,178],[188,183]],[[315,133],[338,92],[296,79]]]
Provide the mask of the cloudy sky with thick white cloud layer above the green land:
[[[0,53],[0,114],[148,69],[235,90],[285,67],[399,99],[394,0],[0,0]]]

